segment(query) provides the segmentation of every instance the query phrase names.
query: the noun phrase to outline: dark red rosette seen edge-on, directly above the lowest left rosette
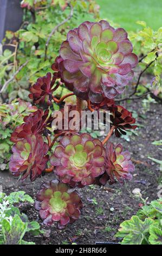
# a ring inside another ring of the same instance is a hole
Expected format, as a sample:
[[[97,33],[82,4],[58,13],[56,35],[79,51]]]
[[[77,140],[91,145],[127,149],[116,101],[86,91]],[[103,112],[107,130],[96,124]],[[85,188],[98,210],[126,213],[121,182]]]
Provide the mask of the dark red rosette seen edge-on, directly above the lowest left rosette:
[[[48,134],[48,127],[51,127],[51,122],[53,118],[49,115],[49,110],[43,111],[43,109],[38,109],[34,113],[29,114],[24,117],[24,123],[16,127],[15,131],[12,132],[10,141],[17,142],[21,141],[27,135],[31,134]]]

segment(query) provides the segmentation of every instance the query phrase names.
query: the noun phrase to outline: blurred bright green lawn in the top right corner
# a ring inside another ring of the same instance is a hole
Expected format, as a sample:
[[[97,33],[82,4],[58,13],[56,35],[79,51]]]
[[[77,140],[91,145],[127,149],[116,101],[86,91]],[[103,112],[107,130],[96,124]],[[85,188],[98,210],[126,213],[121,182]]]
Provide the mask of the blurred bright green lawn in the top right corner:
[[[141,26],[135,22],[146,21],[153,29],[162,27],[162,0],[96,0],[100,16],[118,23],[127,31]]]

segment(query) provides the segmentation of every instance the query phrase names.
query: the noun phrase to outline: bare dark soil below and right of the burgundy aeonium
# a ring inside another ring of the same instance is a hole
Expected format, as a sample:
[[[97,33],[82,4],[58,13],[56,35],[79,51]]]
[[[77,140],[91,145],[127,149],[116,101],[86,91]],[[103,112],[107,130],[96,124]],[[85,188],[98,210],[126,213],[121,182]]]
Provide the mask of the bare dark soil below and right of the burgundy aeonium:
[[[134,110],[140,116],[141,100],[127,103],[128,109]],[[161,159],[162,151],[151,142],[161,139],[161,105],[151,104],[150,111],[145,113],[146,118],[138,117],[138,123],[143,125],[138,130],[138,136],[133,135],[130,142],[125,139],[111,138],[114,143],[121,143],[125,150],[129,150],[133,159],[147,162],[149,166],[135,164],[133,180],[126,182],[124,186],[119,183],[112,186],[112,192],[102,190],[97,186],[88,186],[79,189],[84,209],[79,220],[74,224],[68,225],[64,230],[57,230],[56,225],[45,227],[38,218],[38,212],[34,206],[23,203],[20,204],[20,210],[28,215],[29,220],[36,220],[45,229],[45,233],[37,237],[30,234],[25,235],[25,240],[34,241],[36,244],[95,244],[96,241],[119,240],[114,234],[119,228],[119,224],[128,220],[139,209],[140,200],[135,198],[132,191],[134,188],[140,188],[142,197],[148,198],[150,202],[157,199],[158,177],[160,175],[158,164],[148,159],[148,156]],[[47,180],[55,179],[54,174],[47,174],[35,182],[27,180],[25,182],[17,181],[9,172],[0,172],[0,185],[3,192],[9,194],[13,191],[23,190],[31,197],[35,198],[40,185]],[[92,200],[93,199],[93,200]]]

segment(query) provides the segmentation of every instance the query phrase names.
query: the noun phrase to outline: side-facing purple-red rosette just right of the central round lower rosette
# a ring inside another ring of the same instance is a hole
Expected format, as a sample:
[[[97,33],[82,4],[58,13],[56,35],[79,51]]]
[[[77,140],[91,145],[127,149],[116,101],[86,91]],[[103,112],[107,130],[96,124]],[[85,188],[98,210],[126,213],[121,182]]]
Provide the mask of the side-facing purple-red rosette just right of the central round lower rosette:
[[[121,144],[116,146],[108,142],[106,145],[106,173],[108,175],[100,178],[101,184],[105,185],[106,181],[110,179],[111,184],[118,180],[124,184],[124,180],[132,179],[132,172],[134,172],[134,165],[131,161],[131,155],[128,151],[123,151]]]

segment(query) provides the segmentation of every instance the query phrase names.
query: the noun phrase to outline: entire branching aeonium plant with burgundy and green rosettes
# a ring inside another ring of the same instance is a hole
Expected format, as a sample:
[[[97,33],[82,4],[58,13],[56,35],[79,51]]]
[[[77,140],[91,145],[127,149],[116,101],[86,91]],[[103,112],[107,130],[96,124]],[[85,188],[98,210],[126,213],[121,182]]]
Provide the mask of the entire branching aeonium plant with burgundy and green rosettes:
[[[109,142],[113,134],[120,137],[137,127],[132,113],[114,101],[133,78],[138,58],[132,51],[123,28],[115,29],[103,20],[83,22],[69,31],[67,40],[62,42],[52,65],[54,74],[38,78],[31,86],[29,97],[40,108],[25,117],[11,135],[15,145],[10,171],[22,180],[29,176],[31,181],[49,172],[57,176],[57,180],[43,184],[37,194],[35,208],[44,224],[57,222],[61,229],[79,218],[83,205],[77,187],[111,185],[117,181],[123,185],[132,179],[131,155],[121,144]],[[57,99],[55,90],[62,83],[71,93]],[[81,119],[83,106],[91,112],[109,111],[110,130],[103,141],[80,133],[80,121],[74,128],[72,115],[64,122],[64,116],[59,115],[63,127],[52,129],[52,103],[62,103],[72,95],[76,95],[76,103],[69,105],[68,111],[76,111]]]

